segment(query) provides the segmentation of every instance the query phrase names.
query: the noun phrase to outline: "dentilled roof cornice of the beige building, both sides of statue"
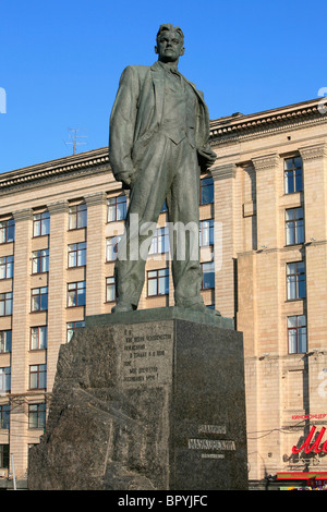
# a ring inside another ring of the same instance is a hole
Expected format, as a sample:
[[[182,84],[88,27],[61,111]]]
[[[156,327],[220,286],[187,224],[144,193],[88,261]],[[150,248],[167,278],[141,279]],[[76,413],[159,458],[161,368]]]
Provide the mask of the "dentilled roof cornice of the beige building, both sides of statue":
[[[210,121],[210,143],[219,145],[244,137],[266,136],[277,131],[295,129],[303,123],[307,125],[327,123],[327,113],[322,113],[320,107],[322,99],[314,99],[254,114],[234,114],[213,120]],[[116,183],[110,171],[108,147],[0,173],[0,195],[58,181],[69,181],[77,176],[86,178],[90,172],[92,174],[108,173]],[[225,174],[222,174],[220,178],[223,178]]]

